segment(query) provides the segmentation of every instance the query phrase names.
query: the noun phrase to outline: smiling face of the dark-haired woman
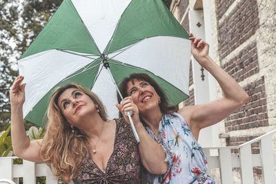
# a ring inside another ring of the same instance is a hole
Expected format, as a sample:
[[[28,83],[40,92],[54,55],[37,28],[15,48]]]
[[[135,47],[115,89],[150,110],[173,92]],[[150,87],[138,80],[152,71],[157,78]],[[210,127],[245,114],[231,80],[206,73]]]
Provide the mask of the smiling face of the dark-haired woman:
[[[128,96],[131,96],[137,105],[139,114],[146,114],[148,110],[159,110],[160,96],[150,83],[134,79],[134,83],[129,81],[127,85]]]

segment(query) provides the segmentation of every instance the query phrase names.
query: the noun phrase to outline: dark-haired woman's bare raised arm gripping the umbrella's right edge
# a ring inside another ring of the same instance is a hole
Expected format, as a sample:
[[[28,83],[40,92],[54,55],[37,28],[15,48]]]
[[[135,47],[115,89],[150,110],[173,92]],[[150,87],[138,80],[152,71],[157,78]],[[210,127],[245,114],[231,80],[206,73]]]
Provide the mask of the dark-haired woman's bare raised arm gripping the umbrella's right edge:
[[[224,92],[224,97],[221,99],[201,105],[186,106],[179,110],[178,113],[186,119],[193,135],[197,139],[201,128],[208,127],[225,119],[239,107],[244,105],[244,103],[248,101],[249,96],[235,79],[222,70],[222,68],[209,57],[208,43],[195,38],[193,34],[190,34],[190,36],[193,57],[203,68],[208,70],[208,72],[215,77],[221,90]]]

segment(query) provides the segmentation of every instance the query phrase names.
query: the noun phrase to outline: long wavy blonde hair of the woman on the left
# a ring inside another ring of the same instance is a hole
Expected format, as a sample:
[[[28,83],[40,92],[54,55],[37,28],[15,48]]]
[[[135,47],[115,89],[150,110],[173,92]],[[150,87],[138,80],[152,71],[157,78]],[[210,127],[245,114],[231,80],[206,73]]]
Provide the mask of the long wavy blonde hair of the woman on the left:
[[[50,167],[55,177],[62,177],[65,183],[75,178],[81,162],[89,155],[88,136],[77,127],[72,132],[70,124],[61,113],[57,103],[59,96],[69,88],[77,88],[87,94],[96,105],[103,121],[107,120],[106,110],[97,95],[77,83],[69,83],[57,88],[50,97],[48,106],[48,121],[44,134],[40,158]]]

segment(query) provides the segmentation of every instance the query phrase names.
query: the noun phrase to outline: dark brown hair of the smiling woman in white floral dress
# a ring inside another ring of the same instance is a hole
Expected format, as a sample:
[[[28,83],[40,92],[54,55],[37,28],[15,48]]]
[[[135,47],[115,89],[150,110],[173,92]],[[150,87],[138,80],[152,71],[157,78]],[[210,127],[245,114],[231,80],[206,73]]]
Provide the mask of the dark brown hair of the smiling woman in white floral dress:
[[[165,92],[162,90],[160,85],[155,81],[155,79],[152,79],[148,74],[146,73],[132,73],[130,76],[125,77],[120,85],[119,90],[121,92],[121,95],[125,98],[128,96],[128,82],[131,81],[132,84],[134,84],[134,79],[140,80],[140,81],[146,81],[148,82],[153,88],[155,88],[155,91],[160,96],[160,103],[159,107],[162,112],[162,114],[169,114],[172,112],[176,112],[177,108],[173,105],[170,105],[168,103],[168,97],[166,96]],[[118,103],[120,103],[121,98],[119,94],[117,93],[117,100]],[[122,114],[119,112],[119,116],[121,117]]]

